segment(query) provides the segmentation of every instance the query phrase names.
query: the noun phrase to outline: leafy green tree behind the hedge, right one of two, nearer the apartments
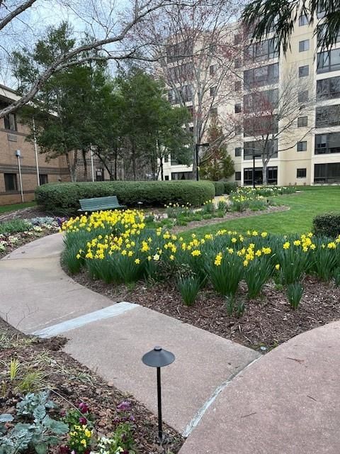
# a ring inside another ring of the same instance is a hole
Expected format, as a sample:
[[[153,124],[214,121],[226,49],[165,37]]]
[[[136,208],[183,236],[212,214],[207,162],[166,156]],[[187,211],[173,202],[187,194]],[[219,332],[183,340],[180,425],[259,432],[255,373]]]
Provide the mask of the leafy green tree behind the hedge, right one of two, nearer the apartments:
[[[165,153],[164,150],[183,153],[188,141],[183,121],[187,120],[188,113],[186,109],[171,109],[164,97],[162,81],[154,80],[140,69],[133,68],[128,74],[120,75],[117,82],[123,99],[123,135],[132,177],[140,177],[138,167],[148,164],[151,177],[156,178],[157,157]]]

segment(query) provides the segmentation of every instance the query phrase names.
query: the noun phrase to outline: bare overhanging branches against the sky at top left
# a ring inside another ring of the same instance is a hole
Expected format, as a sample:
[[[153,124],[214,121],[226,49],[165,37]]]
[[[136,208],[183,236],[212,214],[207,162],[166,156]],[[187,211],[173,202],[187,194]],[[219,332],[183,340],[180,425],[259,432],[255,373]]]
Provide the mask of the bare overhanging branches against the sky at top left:
[[[43,3],[37,0],[0,1],[0,40],[1,50],[5,56],[11,54],[13,42],[19,42],[19,39],[13,41],[13,36],[19,38],[23,33],[30,47],[36,47],[40,39],[37,38],[38,34],[35,34],[37,24],[33,23],[36,16],[29,13],[35,6],[36,14],[41,15]],[[67,67],[95,60],[119,62],[133,58],[147,58],[143,55],[143,49],[145,45],[149,45],[149,42],[131,44],[128,39],[135,26],[145,21],[154,11],[164,9],[166,6],[182,4],[191,7],[195,3],[196,0],[130,0],[125,9],[122,9],[119,2],[115,0],[46,1],[45,5],[47,4],[51,9],[62,7],[67,14],[77,18],[79,30],[90,28],[92,39],[85,41],[86,34],[80,33],[79,40],[74,38],[72,48],[55,53],[48,65],[38,64],[35,67],[34,79],[26,86],[17,101],[0,109],[0,118],[35,99],[47,80]],[[43,23],[40,21],[39,25],[41,27]],[[12,36],[11,40],[8,39],[9,34]],[[25,47],[27,48],[27,43],[17,51],[22,53]],[[101,54],[96,55],[99,51]],[[2,62],[1,69],[6,66],[5,62]]]

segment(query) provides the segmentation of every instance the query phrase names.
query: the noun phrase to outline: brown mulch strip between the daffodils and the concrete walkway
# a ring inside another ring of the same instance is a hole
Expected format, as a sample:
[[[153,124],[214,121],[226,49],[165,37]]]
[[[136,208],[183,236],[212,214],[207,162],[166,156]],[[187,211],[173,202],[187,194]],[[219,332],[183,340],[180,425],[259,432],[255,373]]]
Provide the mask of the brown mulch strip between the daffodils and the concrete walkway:
[[[246,309],[239,318],[228,316],[225,299],[212,289],[201,292],[194,306],[187,307],[175,282],[138,282],[135,287],[126,287],[92,280],[86,272],[72,278],[113,301],[146,306],[262,353],[297,334],[340,319],[340,287],[311,276],[302,282],[304,294],[297,310],[290,308],[284,290],[273,282],[268,282],[261,296],[252,300],[246,299],[246,284],[241,282],[237,297]]]

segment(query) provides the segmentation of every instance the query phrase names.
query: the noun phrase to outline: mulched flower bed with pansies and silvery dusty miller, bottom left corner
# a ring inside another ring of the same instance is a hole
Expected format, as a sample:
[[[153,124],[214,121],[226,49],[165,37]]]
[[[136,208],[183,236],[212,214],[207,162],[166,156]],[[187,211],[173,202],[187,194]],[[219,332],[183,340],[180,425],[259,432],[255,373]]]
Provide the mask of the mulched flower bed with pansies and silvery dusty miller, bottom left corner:
[[[0,452],[89,454],[178,453],[183,438],[133,397],[106,384],[62,351],[0,320]]]

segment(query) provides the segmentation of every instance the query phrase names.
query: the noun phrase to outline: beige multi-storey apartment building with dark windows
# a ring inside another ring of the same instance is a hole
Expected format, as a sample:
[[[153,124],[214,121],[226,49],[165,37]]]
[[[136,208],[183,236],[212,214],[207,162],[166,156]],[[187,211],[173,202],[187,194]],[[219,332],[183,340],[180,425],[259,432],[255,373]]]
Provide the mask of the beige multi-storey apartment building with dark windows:
[[[322,13],[318,18],[322,18]],[[243,33],[242,26],[232,28],[237,42]],[[282,133],[273,134],[276,138],[273,147],[278,153],[268,162],[268,184],[340,183],[340,34],[334,48],[321,52],[314,28],[307,25],[305,16],[300,16],[287,54],[281,52],[279,57],[275,47],[275,37],[271,35],[262,43],[245,45],[244,57],[234,60],[234,76],[228,81],[233,84],[234,96],[217,107],[220,121],[225,122],[227,129],[230,129],[227,122],[232,116],[239,115],[239,123],[242,123],[242,127],[235,126],[234,135],[227,140],[235,167],[231,180],[241,186],[251,185],[254,167],[254,180],[261,184],[262,157],[261,153],[256,153],[261,136],[255,137],[254,131],[247,133],[242,115],[249,109],[254,87],[260,95],[283,101],[280,94],[287,91],[289,79],[291,87],[296,89],[292,110],[299,110],[292,114],[291,126],[286,131],[285,119],[275,126],[276,131]],[[179,62],[181,64],[183,62]],[[288,102],[292,102],[291,99]],[[190,101],[186,105],[190,109]],[[192,178],[192,166],[171,163],[171,156],[164,160],[163,168],[165,179]]]

